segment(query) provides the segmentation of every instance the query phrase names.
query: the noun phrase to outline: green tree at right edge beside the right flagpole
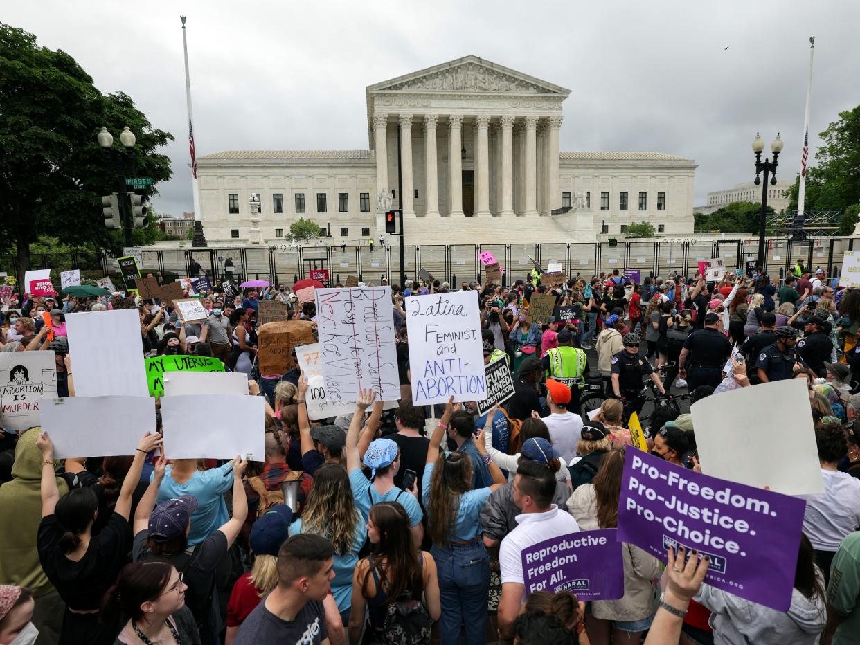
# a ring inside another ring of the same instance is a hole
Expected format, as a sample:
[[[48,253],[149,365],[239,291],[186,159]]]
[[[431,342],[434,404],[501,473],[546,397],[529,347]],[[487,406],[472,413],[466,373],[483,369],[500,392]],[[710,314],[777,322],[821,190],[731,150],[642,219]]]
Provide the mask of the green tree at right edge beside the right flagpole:
[[[845,211],[860,202],[860,106],[840,112],[839,120],[819,136],[822,144],[815,153],[816,165],[807,169],[803,207]],[[789,211],[797,210],[799,190],[800,175],[797,175],[794,186],[786,191]]]

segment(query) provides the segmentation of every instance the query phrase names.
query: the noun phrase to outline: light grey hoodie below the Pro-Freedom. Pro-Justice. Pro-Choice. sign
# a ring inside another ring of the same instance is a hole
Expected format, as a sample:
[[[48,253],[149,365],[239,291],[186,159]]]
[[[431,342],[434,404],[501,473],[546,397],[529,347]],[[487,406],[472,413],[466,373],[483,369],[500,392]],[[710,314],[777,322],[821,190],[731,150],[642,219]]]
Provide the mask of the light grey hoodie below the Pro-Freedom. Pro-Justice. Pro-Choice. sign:
[[[824,579],[816,571],[821,586]],[[721,589],[702,585],[696,601],[710,609],[714,645],[814,645],[827,622],[825,599],[808,599],[791,591],[789,611],[739,598]]]

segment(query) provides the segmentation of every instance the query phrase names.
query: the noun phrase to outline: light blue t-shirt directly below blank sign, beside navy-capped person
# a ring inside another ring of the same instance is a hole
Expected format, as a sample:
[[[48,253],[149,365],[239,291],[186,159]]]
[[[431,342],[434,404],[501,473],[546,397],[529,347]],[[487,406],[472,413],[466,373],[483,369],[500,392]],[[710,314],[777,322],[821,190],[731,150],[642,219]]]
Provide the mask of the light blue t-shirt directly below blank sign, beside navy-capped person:
[[[218,468],[198,470],[184,484],[174,481],[170,476],[171,470],[171,466],[168,466],[161,487],[158,488],[158,503],[181,495],[194,495],[197,510],[191,516],[191,531],[188,532],[188,546],[194,546],[218,531],[230,519],[224,493],[233,488],[233,464],[227,462]]]

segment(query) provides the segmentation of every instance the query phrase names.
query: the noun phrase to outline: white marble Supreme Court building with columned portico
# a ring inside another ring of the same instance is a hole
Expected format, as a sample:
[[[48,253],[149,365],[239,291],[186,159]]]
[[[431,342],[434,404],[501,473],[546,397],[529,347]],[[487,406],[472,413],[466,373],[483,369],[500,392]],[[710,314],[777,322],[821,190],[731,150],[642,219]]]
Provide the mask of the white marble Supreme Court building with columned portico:
[[[696,164],[561,151],[569,94],[476,56],[376,83],[366,89],[369,150],[198,157],[206,238],[284,243],[305,218],[329,243],[378,243],[384,211],[400,206],[409,244],[593,242],[642,221],[692,233]]]

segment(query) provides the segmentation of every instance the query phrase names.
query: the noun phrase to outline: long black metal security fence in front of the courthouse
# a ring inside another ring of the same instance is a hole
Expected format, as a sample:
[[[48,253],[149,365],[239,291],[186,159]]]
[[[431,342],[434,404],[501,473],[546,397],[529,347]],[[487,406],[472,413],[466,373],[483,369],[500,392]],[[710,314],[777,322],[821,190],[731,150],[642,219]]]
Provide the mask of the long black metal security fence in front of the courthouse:
[[[770,238],[765,247],[765,271],[772,279],[783,279],[798,259],[809,267],[824,268],[829,275],[838,275],[845,251],[853,250],[851,237],[817,237],[803,241]],[[672,273],[691,276],[697,263],[720,257],[727,267],[745,269],[748,261],[758,256],[757,239],[716,240],[630,240],[601,243],[494,243],[494,244],[422,244],[406,246],[403,272],[415,279],[419,269],[426,269],[434,278],[452,285],[463,280],[484,278],[478,254],[491,251],[505,269],[504,281],[525,279],[533,268],[532,261],[544,269],[551,262],[562,262],[568,277],[590,278],[598,273],[619,272],[624,268],[638,269],[646,275],[666,277]],[[328,269],[330,279],[345,282],[354,275],[359,280],[377,283],[383,278],[398,282],[401,275],[400,249],[396,246],[304,246],[292,247],[229,247],[206,249],[144,248],[144,273],[161,272],[168,278],[192,273],[195,264],[203,273],[217,278],[267,279],[275,284],[292,285],[298,279],[310,277],[313,269]],[[114,258],[88,251],[71,253],[33,254],[31,268],[51,268],[60,271],[79,268],[85,278],[101,278],[105,274],[119,277]],[[15,276],[15,257],[0,255],[0,271]]]

